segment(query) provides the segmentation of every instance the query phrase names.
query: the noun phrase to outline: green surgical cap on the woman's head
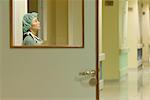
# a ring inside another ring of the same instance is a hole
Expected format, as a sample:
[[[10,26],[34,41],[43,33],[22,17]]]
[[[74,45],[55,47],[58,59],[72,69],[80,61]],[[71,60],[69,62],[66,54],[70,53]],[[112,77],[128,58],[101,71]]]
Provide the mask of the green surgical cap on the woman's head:
[[[36,18],[38,14],[36,12],[32,13],[27,13],[23,16],[22,24],[23,24],[23,33],[26,33],[31,25],[32,25],[32,20]]]

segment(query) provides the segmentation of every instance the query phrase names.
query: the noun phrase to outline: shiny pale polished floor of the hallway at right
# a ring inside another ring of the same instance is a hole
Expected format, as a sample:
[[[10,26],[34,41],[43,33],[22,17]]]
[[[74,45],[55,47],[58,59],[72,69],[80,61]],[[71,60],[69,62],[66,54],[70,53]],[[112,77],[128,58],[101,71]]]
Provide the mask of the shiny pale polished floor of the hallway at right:
[[[150,68],[130,69],[123,81],[106,81],[100,100],[150,100]]]

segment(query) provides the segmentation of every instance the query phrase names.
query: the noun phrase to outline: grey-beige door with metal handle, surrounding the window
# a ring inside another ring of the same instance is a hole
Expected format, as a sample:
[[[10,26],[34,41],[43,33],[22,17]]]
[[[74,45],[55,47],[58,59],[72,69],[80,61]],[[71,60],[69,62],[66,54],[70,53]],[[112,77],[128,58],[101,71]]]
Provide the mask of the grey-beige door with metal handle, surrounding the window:
[[[84,48],[49,49],[10,49],[9,0],[1,1],[3,100],[96,100],[95,1],[84,2]]]

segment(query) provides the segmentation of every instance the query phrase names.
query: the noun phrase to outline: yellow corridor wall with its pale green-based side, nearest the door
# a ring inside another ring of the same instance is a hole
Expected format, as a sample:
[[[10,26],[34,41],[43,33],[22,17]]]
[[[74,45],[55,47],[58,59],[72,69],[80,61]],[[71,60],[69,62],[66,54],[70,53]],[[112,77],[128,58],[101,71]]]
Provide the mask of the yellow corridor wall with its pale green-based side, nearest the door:
[[[106,54],[104,80],[120,80],[127,71],[127,1],[113,1],[102,8],[102,51]]]

